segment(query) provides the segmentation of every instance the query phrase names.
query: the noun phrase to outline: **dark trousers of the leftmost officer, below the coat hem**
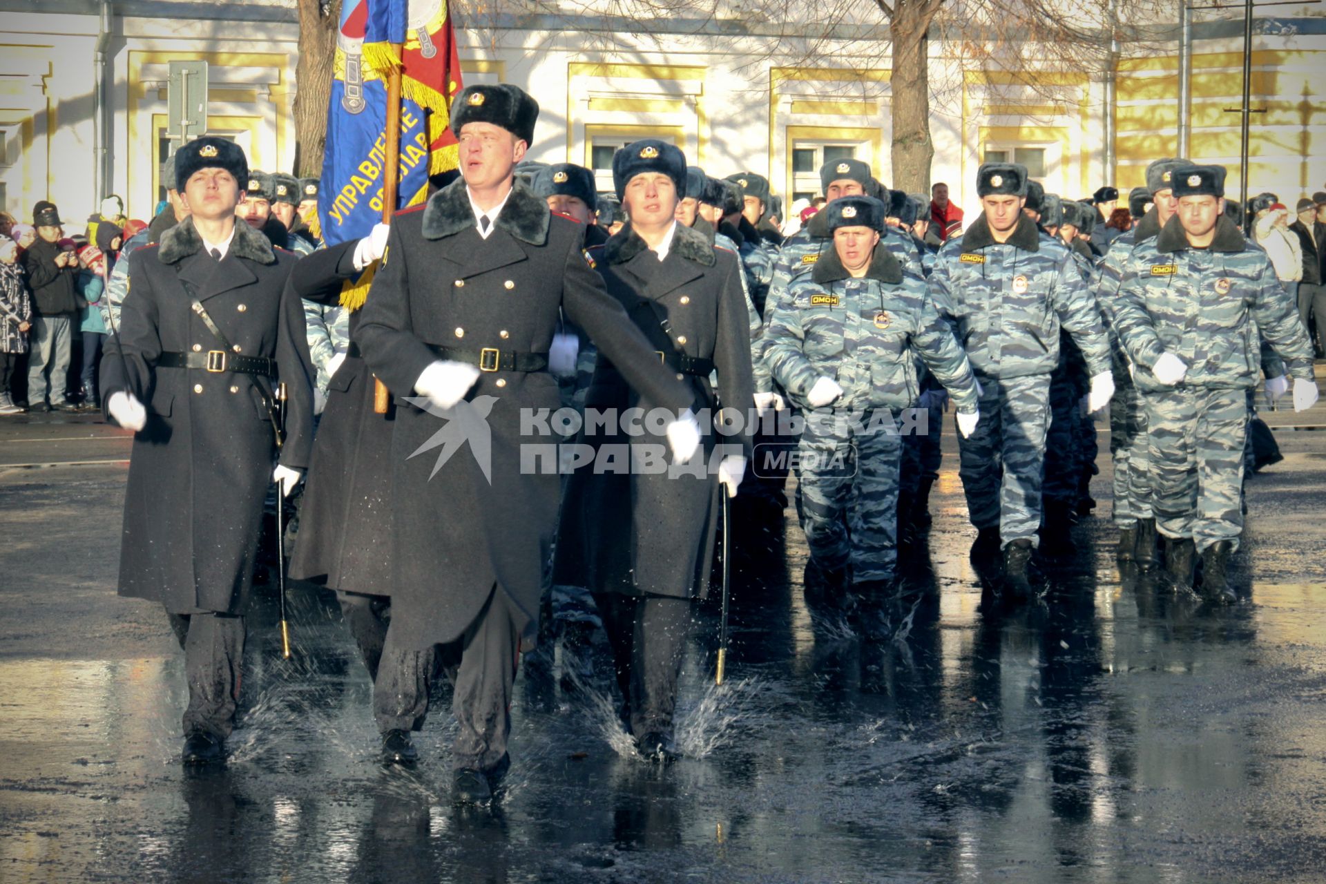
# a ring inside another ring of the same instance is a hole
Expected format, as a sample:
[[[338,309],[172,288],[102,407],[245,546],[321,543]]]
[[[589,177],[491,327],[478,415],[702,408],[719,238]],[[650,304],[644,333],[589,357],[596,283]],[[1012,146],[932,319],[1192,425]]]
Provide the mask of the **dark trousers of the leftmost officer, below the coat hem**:
[[[220,738],[235,729],[244,664],[244,618],[229,614],[170,614],[171,630],[184,648],[188,708],[184,734],[206,732]]]

